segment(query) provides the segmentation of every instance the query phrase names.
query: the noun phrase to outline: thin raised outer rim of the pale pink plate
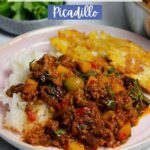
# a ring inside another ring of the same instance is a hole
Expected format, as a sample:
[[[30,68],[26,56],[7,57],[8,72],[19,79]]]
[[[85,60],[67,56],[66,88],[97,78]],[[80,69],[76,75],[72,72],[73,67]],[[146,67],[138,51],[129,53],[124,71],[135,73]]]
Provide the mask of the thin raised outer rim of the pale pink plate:
[[[100,30],[103,30],[103,28],[105,28],[105,29],[113,29],[113,30],[116,30],[117,32],[121,32],[121,34],[123,34],[123,33],[126,33],[126,34],[129,34],[129,35],[131,35],[131,36],[136,36],[137,38],[140,38],[140,39],[143,39],[143,40],[145,40],[145,41],[147,41],[147,42],[149,42],[150,40],[149,39],[146,39],[146,38],[144,38],[143,36],[141,36],[141,35],[138,35],[138,34],[136,34],[136,33],[133,33],[133,32],[130,32],[130,31],[127,31],[127,30],[125,30],[125,29],[120,29],[120,28],[117,28],[117,27],[112,27],[112,26],[107,26],[107,25],[85,25],[85,24],[81,24],[81,23],[79,23],[79,24],[76,24],[76,25],[65,25],[65,26],[63,26],[63,25],[61,25],[61,26],[54,26],[54,27],[46,27],[46,28],[42,28],[42,29],[38,29],[38,30],[33,30],[33,31],[30,31],[30,32],[27,32],[27,33],[24,33],[24,34],[21,34],[21,35],[19,35],[19,36],[17,36],[17,37],[15,37],[15,38],[13,38],[12,40],[10,40],[9,42],[6,42],[6,43],[4,43],[4,44],[1,44],[1,47],[0,47],[0,53],[2,52],[2,50],[4,49],[4,48],[7,48],[7,47],[9,47],[9,46],[11,46],[12,44],[17,44],[18,42],[20,42],[20,41],[22,41],[22,40],[24,40],[24,39],[27,39],[28,37],[31,37],[31,36],[35,36],[35,35],[38,35],[38,34],[41,34],[41,33],[44,33],[44,32],[51,32],[51,31],[53,31],[53,30],[55,30],[55,31],[58,31],[58,30],[60,30],[60,29],[65,29],[65,28],[76,28],[76,27],[78,27],[79,26],[79,28],[80,27],[87,27],[87,28],[89,28],[89,27],[92,27],[93,28],[93,30],[94,30],[94,27],[99,27],[100,28]],[[99,31],[100,31],[99,30]],[[30,145],[30,144],[27,144],[27,143],[24,143],[23,141],[18,141],[17,139],[12,139],[11,137],[9,137],[9,136],[7,136],[6,134],[5,134],[5,131],[7,131],[7,132],[9,132],[9,133],[12,133],[12,132],[10,132],[10,131],[8,131],[8,130],[6,130],[6,129],[4,129],[4,128],[0,128],[0,137],[1,138],[3,138],[5,141],[7,141],[8,143],[10,143],[10,144],[12,144],[12,145],[14,145],[15,147],[17,147],[17,148],[21,148],[22,146],[22,149],[27,149],[27,148],[29,148],[29,149],[32,149],[32,150],[48,150],[49,148],[55,148],[55,147],[42,147],[42,146],[32,146],[32,145]],[[13,133],[12,133],[13,134]],[[138,147],[138,146],[140,146],[140,145],[144,145],[145,144],[145,146],[146,146],[146,144],[148,144],[150,142],[150,138],[148,138],[148,139],[145,139],[145,140],[143,140],[143,141],[141,141],[141,142],[138,142],[138,143],[135,143],[135,144],[131,144],[131,145],[128,145],[128,146],[126,146],[126,147],[116,147],[115,149],[117,150],[117,149],[123,149],[123,150],[129,150],[129,149],[133,149],[133,148],[136,148],[136,147]],[[122,145],[123,146],[123,145]]]

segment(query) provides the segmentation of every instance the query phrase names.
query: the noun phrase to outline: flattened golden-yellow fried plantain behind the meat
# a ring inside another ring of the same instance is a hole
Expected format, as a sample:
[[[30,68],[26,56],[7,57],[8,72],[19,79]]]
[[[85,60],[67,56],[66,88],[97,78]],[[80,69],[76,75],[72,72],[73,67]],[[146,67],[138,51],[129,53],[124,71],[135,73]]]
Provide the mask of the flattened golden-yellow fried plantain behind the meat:
[[[105,32],[88,34],[61,30],[51,39],[52,46],[63,54],[85,61],[107,58],[110,65],[133,79],[150,92],[150,53],[129,40],[112,37]],[[81,67],[84,68],[84,67]],[[86,69],[83,69],[83,72]]]

